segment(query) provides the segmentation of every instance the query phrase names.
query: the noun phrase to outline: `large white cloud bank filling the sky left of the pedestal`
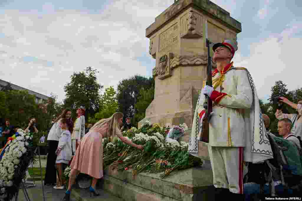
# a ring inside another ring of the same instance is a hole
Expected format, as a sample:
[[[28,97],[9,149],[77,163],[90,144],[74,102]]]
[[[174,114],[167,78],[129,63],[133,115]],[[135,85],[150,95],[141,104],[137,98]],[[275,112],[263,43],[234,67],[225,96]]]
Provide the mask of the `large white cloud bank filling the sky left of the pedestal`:
[[[143,66],[134,58],[148,52],[146,28],[173,2],[120,0],[98,14],[54,10],[50,3],[43,5],[44,14],[5,10],[0,15],[5,34],[0,37],[0,79],[63,100],[72,73],[87,66],[100,72],[98,82],[104,87],[134,74],[146,76],[155,60]],[[24,61],[25,56],[34,59]]]

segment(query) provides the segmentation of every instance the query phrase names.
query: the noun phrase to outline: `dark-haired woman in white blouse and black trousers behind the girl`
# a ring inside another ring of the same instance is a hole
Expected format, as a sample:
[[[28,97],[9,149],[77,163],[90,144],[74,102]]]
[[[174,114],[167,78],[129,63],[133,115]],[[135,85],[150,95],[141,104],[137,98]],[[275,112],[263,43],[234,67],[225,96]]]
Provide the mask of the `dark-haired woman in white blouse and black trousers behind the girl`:
[[[67,119],[67,124],[69,128],[73,127],[73,122],[71,120],[71,109],[64,109],[62,114],[59,115],[58,118],[53,122],[53,126],[51,127],[47,141],[48,141],[48,156],[47,156],[47,164],[46,164],[46,173],[44,185],[55,185],[56,183],[56,150],[58,148],[59,139],[62,134],[62,129],[59,126],[59,123],[62,118]]]

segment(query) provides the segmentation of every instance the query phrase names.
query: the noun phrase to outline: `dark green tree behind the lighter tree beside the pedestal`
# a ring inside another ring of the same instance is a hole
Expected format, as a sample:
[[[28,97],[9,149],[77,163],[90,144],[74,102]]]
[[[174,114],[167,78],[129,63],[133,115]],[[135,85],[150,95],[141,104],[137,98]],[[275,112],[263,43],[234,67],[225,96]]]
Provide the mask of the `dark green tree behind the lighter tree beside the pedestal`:
[[[140,89],[148,90],[152,86],[154,86],[153,77],[146,78],[139,75],[119,82],[117,86],[117,102],[119,103],[119,110],[123,112],[124,117],[133,117],[136,113],[134,106],[137,103]]]

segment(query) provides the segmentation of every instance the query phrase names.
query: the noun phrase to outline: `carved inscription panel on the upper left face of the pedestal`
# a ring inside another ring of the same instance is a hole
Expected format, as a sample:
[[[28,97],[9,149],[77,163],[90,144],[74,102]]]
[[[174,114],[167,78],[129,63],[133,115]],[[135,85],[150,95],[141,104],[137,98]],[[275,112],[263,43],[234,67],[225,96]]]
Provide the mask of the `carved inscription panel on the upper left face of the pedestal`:
[[[159,52],[178,41],[178,24],[176,23],[159,35]]]

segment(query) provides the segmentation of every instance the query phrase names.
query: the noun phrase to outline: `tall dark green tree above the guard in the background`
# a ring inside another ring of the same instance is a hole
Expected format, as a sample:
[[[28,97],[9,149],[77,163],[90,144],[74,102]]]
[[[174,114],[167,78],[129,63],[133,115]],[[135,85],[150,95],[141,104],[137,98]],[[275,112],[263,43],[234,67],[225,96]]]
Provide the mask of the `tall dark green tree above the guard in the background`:
[[[64,107],[76,109],[80,105],[85,106],[86,121],[88,117],[93,117],[99,110],[101,98],[99,91],[103,86],[97,82],[97,73],[98,71],[92,67],[87,67],[83,72],[74,72],[70,83],[64,86],[66,92]]]

